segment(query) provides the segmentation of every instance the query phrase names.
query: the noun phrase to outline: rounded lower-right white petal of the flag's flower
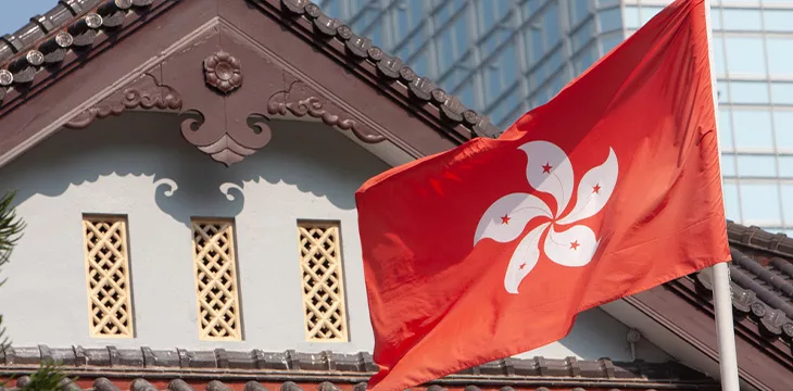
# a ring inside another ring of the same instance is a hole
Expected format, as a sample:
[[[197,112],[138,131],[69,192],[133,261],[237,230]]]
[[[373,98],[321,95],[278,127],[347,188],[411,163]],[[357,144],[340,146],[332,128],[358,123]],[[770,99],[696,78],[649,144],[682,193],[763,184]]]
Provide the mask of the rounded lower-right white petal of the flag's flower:
[[[578,225],[556,232],[554,227],[545,238],[545,255],[562,266],[583,266],[592,261],[597,249],[597,239],[587,226]]]

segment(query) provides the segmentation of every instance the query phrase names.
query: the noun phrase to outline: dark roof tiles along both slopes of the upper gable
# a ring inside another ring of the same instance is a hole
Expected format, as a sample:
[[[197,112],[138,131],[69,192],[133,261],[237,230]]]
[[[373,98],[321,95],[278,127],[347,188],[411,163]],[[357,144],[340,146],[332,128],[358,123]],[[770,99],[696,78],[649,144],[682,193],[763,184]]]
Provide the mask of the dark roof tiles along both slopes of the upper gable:
[[[267,3],[267,0],[246,1],[260,7]],[[60,67],[71,52],[85,52],[99,41],[102,34],[117,34],[131,25],[128,18],[143,16],[150,9],[168,2],[175,0],[66,0],[59,1],[43,15],[32,17],[15,33],[0,38],[0,106],[13,88],[30,88],[32,83],[37,81],[37,73]],[[313,26],[310,33],[317,38],[340,41],[351,62],[368,61],[374,64],[381,85],[405,89],[415,106],[435,106],[438,115],[451,122],[452,126],[463,125],[475,135],[494,137],[501,133],[487,116],[466,108],[457,97],[448,94],[429,78],[417,75],[399,58],[383,53],[369,38],[355,35],[348,25],[327,16],[313,2],[280,0],[280,3],[292,13],[291,16],[309,21]],[[87,59],[83,56],[75,61]]]

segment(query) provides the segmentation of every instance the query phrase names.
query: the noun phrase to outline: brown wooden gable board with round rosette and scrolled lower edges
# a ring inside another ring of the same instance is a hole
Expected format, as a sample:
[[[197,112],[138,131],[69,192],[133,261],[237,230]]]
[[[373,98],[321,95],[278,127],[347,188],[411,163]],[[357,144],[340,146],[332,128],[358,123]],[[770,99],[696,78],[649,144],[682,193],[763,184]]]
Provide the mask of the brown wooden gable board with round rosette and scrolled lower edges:
[[[242,63],[255,70],[244,87]],[[180,125],[185,139],[227,166],[265,147],[272,137],[270,118],[288,114],[319,118],[367,143],[386,139],[342,110],[343,103],[319,93],[313,81],[297,78],[284,66],[218,22],[66,126],[84,128],[95,118],[131,109],[176,111],[186,116]]]

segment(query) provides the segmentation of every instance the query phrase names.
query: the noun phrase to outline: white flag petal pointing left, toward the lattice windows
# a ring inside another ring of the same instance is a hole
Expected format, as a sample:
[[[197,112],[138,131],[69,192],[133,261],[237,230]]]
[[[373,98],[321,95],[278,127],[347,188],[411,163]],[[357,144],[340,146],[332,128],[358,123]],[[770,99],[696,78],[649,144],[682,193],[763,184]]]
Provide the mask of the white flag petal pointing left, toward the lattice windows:
[[[479,220],[474,244],[482,238],[506,243],[515,240],[534,217],[551,217],[551,211],[539,198],[527,193],[512,193],[493,202]]]

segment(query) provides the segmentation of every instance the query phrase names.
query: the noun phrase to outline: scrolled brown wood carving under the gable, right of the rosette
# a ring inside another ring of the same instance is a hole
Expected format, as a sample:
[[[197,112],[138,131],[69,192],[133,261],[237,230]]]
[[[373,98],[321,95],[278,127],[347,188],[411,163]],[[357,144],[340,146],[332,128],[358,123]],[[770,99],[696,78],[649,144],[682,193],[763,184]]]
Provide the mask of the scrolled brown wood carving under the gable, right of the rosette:
[[[336,126],[342,130],[352,130],[364,142],[376,143],[385,140],[382,135],[366,125],[357,123],[352,118],[352,115],[297,79],[291,80],[286,90],[274,93],[267,101],[267,113],[269,115],[286,115],[287,112],[299,117],[309,115],[320,118],[327,125]]]

